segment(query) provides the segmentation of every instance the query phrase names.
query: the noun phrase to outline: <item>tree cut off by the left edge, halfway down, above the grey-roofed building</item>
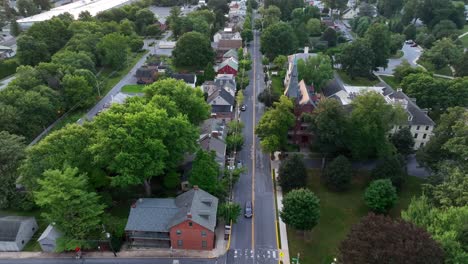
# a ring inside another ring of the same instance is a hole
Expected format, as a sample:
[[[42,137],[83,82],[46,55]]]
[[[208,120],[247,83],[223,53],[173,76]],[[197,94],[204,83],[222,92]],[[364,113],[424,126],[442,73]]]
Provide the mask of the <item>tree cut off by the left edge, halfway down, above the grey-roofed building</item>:
[[[16,179],[24,158],[24,138],[0,131],[0,208],[8,208],[16,193]]]

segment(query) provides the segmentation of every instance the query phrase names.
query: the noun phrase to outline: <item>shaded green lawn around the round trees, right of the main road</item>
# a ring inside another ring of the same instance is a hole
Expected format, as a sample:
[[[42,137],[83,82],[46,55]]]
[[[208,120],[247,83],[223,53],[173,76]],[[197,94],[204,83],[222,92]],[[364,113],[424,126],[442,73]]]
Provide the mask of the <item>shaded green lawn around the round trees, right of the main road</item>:
[[[321,217],[318,225],[308,234],[307,241],[302,233],[288,227],[290,255],[296,256],[299,252],[304,264],[330,264],[351,226],[368,212],[363,200],[367,182],[368,172],[360,171],[355,175],[350,190],[331,192],[320,183],[320,171],[311,170],[307,187],[320,199]],[[400,216],[400,211],[407,208],[411,197],[420,194],[421,183],[419,178],[408,177],[398,195],[397,205],[390,211],[391,216]]]

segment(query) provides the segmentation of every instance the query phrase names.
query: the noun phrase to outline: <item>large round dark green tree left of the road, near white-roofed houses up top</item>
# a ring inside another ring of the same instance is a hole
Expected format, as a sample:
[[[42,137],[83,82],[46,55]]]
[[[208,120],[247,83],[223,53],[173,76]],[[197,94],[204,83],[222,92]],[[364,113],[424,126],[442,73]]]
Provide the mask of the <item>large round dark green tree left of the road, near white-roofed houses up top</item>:
[[[182,35],[177,41],[172,55],[174,64],[182,68],[203,69],[214,59],[210,40],[198,32],[188,32]]]

